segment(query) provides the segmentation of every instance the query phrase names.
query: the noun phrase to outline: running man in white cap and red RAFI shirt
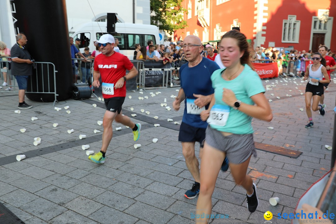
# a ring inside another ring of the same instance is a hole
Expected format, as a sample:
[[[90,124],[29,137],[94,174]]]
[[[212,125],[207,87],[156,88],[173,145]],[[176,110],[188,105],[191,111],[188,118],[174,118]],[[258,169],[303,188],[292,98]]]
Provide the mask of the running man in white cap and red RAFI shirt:
[[[134,141],[140,136],[141,124],[134,124],[129,117],[122,116],[122,105],[126,97],[126,80],[132,79],[138,74],[132,62],[123,54],[114,51],[115,39],[111,34],[104,34],[97,41],[101,54],[94,59],[93,83],[99,87],[101,76],[101,89],[106,111],[103,118],[104,132],[100,152],[89,155],[89,159],[95,163],[105,162],[105,153],[112,139],[112,122],[122,123],[133,130]],[[126,74],[126,69],[129,73]]]

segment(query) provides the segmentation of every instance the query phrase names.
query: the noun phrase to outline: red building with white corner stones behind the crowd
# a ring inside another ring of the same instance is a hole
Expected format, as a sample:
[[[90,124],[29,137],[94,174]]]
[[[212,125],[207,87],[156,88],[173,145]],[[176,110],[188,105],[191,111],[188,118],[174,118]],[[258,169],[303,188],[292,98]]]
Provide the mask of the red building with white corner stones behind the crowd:
[[[254,47],[316,51],[325,44],[336,51],[336,0],[184,0],[182,6],[188,27],[175,31],[175,40],[196,35],[215,42],[240,27]]]

